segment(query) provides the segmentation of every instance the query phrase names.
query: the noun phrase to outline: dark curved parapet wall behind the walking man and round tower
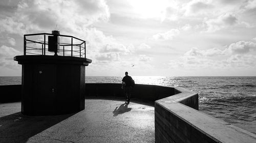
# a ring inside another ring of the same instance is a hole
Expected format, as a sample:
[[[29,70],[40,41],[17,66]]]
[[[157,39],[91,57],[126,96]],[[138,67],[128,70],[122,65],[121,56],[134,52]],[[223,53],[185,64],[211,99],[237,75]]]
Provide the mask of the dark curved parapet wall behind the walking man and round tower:
[[[0,102],[21,101],[22,85],[1,85]],[[158,85],[136,84],[132,89],[132,98],[156,101],[172,96],[179,91]],[[125,97],[121,83],[86,83],[86,96],[119,96]]]

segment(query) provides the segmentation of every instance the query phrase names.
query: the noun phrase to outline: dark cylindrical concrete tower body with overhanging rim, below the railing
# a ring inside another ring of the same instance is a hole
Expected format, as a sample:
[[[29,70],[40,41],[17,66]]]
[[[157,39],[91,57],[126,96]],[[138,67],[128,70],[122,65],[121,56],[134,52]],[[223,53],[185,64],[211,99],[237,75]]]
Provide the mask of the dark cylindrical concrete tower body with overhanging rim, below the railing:
[[[85,67],[90,59],[19,55],[22,65],[22,113],[59,115],[84,109]]]

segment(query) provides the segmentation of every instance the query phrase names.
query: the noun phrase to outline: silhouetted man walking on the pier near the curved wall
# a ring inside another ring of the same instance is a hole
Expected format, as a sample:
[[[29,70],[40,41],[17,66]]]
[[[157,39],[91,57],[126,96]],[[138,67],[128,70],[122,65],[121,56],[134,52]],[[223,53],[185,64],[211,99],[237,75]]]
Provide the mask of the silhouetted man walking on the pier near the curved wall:
[[[128,72],[125,72],[125,76],[122,79],[122,89],[126,94],[126,102],[129,104],[131,99],[132,77],[128,75]]]

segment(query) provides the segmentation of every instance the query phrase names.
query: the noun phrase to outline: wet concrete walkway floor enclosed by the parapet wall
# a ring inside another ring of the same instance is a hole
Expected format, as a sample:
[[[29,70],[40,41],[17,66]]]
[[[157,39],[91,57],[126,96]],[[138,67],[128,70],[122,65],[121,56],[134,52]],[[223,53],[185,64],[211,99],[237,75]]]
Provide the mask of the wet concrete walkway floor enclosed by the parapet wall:
[[[154,104],[87,98],[86,109],[59,116],[24,116],[20,102],[0,104],[0,142],[155,142]]]

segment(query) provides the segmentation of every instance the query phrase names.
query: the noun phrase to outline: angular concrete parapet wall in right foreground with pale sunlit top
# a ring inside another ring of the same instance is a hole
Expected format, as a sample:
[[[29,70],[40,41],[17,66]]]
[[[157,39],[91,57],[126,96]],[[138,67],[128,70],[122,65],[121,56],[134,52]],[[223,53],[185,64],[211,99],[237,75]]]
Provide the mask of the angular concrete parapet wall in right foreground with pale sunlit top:
[[[198,111],[198,94],[180,93],[155,101],[156,142],[256,142],[256,135]]]

